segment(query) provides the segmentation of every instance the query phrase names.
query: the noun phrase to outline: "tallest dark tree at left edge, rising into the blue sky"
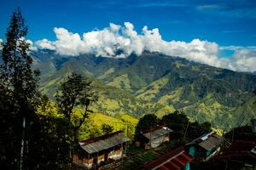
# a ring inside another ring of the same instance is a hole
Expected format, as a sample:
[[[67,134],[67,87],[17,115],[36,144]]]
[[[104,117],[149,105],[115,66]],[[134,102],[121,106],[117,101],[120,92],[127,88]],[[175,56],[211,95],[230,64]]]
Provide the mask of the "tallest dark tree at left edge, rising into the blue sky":
[[[33,101],[38,97],[39,71],[32,70],[32,57],[28,54],[30,44],[26,42],[26,34],[25,20],[20,8],[17,8],[11,16],[6,41],[3,42],[3,65],[0,71],[0,112],[4,126],[1,135],[5,130],[8,132],[5,136],[6,141],[1,144],[1,149],[6,151],[6,155],[1,159],[6,159],[5,162],[9,164],[10,169],[15,167],[16,160],[20,161],[21,168],[22,161],[27,157],[29,134],[26,133],[26,125],[32,122],[35,114]],[[4,105],[7,102],[8,105]]]

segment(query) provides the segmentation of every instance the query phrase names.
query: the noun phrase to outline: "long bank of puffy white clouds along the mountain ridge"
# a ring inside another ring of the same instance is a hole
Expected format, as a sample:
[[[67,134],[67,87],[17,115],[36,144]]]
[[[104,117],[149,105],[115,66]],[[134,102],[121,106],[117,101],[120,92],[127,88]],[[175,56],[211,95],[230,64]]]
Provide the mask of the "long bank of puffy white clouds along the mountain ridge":
[[[142,33],[138,34],[130,22],[125,22],[124,26],[110,23],[107,28],[84,32],[82,36],[65,28],[54,28],[54,31],[56,41],[42,39],[35,43],[38,48],[55,50],[57,54],[68,56],[96,54],[96,56],[113,58],[125,58],[131,54],[139,56],[147,50],[235,71],[255,71],[252,63],[256,56],[250,49],[244,51],[244,48],[235,46],[218,47],[216,42],[200,39],[191,42],[168,42],[162,39],[158,28],[149,30],[148,26],[144,26]],[[220,58],[218,50],[228,48],[236,50],[234,57]]]

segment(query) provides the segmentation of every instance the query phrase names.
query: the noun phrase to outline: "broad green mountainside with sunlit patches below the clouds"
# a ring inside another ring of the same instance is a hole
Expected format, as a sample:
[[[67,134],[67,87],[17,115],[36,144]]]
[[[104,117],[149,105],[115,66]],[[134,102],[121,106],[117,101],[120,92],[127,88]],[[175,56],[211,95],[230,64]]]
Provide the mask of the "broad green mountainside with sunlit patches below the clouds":
[[[228,130],[256,116],[256,76],[195,63],[178,57],[144,52],[126,59],[84,54],[61,56],[54,51],[32,52],[41,71],[40,89],[54,99],[63,77],[77,71],[95,80],[99,100],[95,109],[163,116],[184,111],[192,120],[211,122]]]

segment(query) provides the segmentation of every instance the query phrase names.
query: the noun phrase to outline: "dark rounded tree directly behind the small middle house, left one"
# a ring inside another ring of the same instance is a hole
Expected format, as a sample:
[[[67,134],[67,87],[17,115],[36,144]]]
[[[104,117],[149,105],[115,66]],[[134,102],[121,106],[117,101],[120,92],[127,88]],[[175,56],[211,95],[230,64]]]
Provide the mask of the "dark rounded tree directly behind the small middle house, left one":
[[[159,119],[154,114],[144,115],[140,118],[139,122],[137,122],[135,133],[137,134],[148,127],[156,126],[159,122]]]

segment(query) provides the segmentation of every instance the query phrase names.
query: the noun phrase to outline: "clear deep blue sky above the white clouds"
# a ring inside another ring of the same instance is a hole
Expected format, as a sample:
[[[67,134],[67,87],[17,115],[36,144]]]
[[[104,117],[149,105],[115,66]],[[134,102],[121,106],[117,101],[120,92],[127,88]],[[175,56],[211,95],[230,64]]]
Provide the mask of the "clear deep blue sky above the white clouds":
[[[0,0],[0,37],[17,6],[29,26],[28,38],[55,39],[54,27],[82,33],[129,21],[139,32],[143,26],[159,28],[165,40],[189,42],[194,38],[222,46],[256,44],[256,2],[154,0]],[[157,2],[157,3],[156,3]]]

